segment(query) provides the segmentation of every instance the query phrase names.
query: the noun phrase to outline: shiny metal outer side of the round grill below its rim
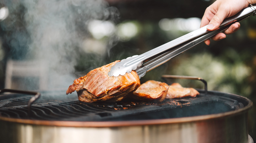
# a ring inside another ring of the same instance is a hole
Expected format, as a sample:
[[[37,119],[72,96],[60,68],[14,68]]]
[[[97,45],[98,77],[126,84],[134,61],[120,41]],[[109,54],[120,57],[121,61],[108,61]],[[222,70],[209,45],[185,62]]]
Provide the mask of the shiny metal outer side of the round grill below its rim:
[[[5,143],[248,143],[247,114],[220,119],[114,127],[67,127],[2,121]]]

